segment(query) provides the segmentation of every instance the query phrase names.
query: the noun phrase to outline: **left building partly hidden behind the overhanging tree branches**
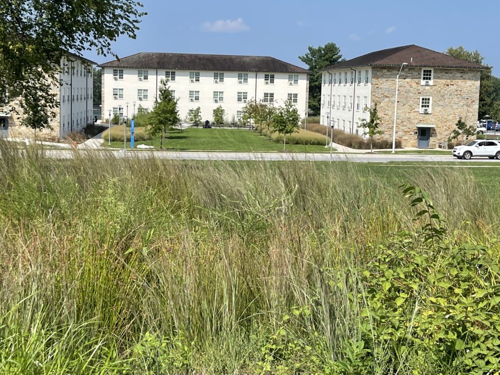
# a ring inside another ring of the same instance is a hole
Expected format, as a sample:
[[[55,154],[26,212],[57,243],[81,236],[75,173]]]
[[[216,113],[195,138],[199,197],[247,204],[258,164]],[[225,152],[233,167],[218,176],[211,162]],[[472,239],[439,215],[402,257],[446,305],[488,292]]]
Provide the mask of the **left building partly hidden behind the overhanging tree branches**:
[[[61,58],[59,84],[51,90],[59,101],[50,128],[36,130],[36,139],[57,141],[92,123],[92,67],[95,62],[69,53]],[[48,79],[48,78],[47,78]],[[15,112],[11,110],[15,108]],[[24,113],[15,99],[0,110],[0,137],[33,138],[32,128],[21,125]]]

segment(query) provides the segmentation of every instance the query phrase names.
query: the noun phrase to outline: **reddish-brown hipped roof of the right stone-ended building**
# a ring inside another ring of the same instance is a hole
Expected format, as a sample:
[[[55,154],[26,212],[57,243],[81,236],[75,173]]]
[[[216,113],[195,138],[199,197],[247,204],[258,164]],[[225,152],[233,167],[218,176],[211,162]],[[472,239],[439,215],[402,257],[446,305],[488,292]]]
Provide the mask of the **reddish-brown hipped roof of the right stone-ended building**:
[[[408,66],[436,67],[436,68],[467,68],[487,69],[487,66],[474,64],[469,61],[460,60],[445,53],[436,52],[432,49],[423,48],[415,44],[400,47],[382,49],[379,51],[363,54],[350,60],[341,61],[328,66],[320,71],[345,69],[356,66],[401,66],[407,62]]]

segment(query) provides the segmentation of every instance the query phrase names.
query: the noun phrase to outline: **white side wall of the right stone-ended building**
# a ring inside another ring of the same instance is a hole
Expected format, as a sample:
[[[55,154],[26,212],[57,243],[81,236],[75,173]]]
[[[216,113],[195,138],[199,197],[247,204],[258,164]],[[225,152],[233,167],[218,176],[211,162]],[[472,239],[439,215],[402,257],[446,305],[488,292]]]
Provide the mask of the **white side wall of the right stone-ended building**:
[[[365,83],[365,70],[368,70],[368,79]],[[329,113],[328,120],[330,125],[334,128],[343,130],[345,133],[354,133],[362,135],[364,129],[358,126],[363,119],[369,117],[369,112],[364,110],[365,105],[370,104],[371,95],[371,68],[370,67],[357,67],[356,68],[356,80],[354,83],[350,83],[351,77],[350,69],[332,69],[329,70],[332,73],[332,84],[330,85],[329,79],[330,75],[328,72],[322,73],[321,81],[321,113],[320,113],[320,123],[323,125],[327,124],[327,116]],[[344,73],[347,73],[347,83],[344,83]],[[358,83],[357,78],[360,73],[360,82]],[[339,83],[339,76],[341,77],[341,82]],[[336,77],[336,82],[334,78]],[[354,92],[355,88],[355,92]],[[331,98],[330,98],[331,90]],[[340,100],[338,99],[340,96]],[[345,96],[345,107],[344,103]],[[352,100],[354,99],[354,100]],[[338,104],[340,101],[340,104]],[[354,106],[352,103],[354,101]],[[328,105],[329,103],[329,105]],[[357,104],[359,103],[359,108]],[[352,123],[352,115],[354,114],[354,121]],[[349,122],[351,125],[349,126]]]

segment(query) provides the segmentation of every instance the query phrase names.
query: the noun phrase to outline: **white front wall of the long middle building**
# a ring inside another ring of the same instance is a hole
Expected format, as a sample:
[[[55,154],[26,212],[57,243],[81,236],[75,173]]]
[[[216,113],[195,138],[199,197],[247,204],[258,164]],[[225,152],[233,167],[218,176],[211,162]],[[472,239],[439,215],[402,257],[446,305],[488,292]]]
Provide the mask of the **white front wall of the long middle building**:
[[[160,85],[160,79],[165,77],[165,71],[169,69],[142,69],[142,68],[123,68],[123,79],[115,80],[113,78],[112,67],[102,68],[102,84],[103,84],[103,104],[102,115],[105,118],[109,116],[109,110],[121,105],[123,107],[123,115],[127,115],[126,103],[128,102],[128,115],[133,112],[133,102],[135,101],[135,111],[138,105],[144,108],[152,109],[154,99],[157,95],[157,87]],[[119,68],[121,69],[121,68]],[[139,80],[138,70],[148,70],[148,79]],[[193,71],[193,70],[191,70]],[[201,108],[202,120],[213,119],[213,109],[221,105],[225,109],[225,120],[231,122],[237,116],[237,111],[240,111],[245,103],[237,101],[237,92],[246,92],[247,100],[257,98],[260,100],[264,97],[264,92],[274,94],[274,105],[282,105],[287,99],[288,93],[297,94],[297,110],[303,117],[305,114],[307,103],[307,74],[298,74],[298,83],[289,85],[288,73],[270,73],[274,74],[274,83],[265,84],[264,74],[255,72],[243,71],[220,71],[224,73],[224,82],[214,82],[213,73],[215,71],[200,71],[199,82],[190,82],[189,70],[175,70],[175,81],[169,81],[170,90],[175,91],[175,97],[178,99],[178,111],[180,118],[184,119],[189,109],[196,107]],[[219,71],[217,71],[219,72]],[[238,73],[247,73],[248,82],[238,83]],[[292,73],[297,74],[297,73]],[[123,98],[113,97],[113,88],[123,89]],[[148,98],[140,100],[137,96],[138,89],[147,89]],[[199,91],[199,101],[189,100],[189,91]],[[223,101],[214,102],[213,91],[223,92]],[[236,119],[237,121],[237,119]]]

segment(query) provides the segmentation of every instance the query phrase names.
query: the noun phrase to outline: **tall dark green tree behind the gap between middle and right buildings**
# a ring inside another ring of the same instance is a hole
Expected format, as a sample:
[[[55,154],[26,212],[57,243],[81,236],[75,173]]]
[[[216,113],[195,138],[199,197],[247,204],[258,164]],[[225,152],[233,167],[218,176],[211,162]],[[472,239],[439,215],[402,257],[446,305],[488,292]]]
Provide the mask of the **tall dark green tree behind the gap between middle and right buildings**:
[[[319,69],[342,61],[340,48],[335,43],[329,42],[323,46],[307,47],[307,53],[298,58],[304,62],[312,72],[309,76],[309,108],[314,115],[320,112],[321,99],[321,73]]]

